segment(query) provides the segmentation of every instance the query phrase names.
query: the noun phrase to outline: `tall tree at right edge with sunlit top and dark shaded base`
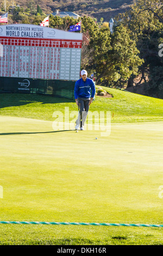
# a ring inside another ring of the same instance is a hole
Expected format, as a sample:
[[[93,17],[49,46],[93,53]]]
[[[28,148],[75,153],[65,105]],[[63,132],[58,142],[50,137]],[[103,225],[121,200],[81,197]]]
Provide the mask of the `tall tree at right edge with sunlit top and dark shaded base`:
[[[136,86],[142,82],[145,83],[145,88],[149,89],[150,96],[156,95],[156,93],[152,94],[152,88],[153,92],[158,89],[158,93],[160,93],[159,84],[163,81],[160,73],[156,72],[156,69],[160,70],[163,64],[163,58],[159,56],[159,44],[163,37],[162,9],[162,0],[138,0],[129,11],[118,17],[130,29],[131,38],[136,41],[140,57],[144,59],[139,68],[140,81],[136,83]],[[155,74],[155,79],[153,74]],[[134,78],[134,76],[130,77],[128,87],[133,86]]]

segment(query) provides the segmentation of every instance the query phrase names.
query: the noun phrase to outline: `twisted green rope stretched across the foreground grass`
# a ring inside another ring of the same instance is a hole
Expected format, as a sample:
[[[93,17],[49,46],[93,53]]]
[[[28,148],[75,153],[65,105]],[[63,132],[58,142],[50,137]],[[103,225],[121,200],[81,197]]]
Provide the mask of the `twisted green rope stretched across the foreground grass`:
[[[0,221],[0,224],[46,224],[46,225],[102,225],[124,227],[154,227],[163,228],[158,224],[126,224],[126,223],[79,223],[79,222],[38,222],[38,221]]]

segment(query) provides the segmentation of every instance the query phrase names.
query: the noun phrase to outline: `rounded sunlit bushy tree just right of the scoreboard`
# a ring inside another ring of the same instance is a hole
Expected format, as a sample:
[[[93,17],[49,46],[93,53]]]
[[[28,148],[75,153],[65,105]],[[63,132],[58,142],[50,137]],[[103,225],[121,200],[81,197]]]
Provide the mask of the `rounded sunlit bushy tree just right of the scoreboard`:
[[[111,35],[109,28],[102,27],[92,39],[93,62],[96,64],[97,83],[108,81],[124,83],[137,74],[142,60],[136,42],[130,39],[130,31],[123,25],[117,26]]]

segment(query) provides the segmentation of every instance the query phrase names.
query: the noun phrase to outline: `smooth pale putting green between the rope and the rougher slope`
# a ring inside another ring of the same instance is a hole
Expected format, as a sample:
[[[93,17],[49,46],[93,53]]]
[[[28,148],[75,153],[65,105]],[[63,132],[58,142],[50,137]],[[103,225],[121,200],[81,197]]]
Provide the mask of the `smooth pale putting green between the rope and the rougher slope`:
[[[112,123],[110,136],[0,123],[1,220],[162,224],[162,121]]]

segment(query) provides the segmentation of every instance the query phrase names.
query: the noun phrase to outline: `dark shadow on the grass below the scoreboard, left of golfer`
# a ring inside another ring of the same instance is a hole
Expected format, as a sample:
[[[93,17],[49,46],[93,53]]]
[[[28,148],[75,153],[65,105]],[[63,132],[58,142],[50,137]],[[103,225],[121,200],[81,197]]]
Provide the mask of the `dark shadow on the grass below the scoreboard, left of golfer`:
[[[63,102],[74,102],[74,100],[62,97],[39,94],[1,93],[0,108],[23,106],[30,103],[54,104]]]

